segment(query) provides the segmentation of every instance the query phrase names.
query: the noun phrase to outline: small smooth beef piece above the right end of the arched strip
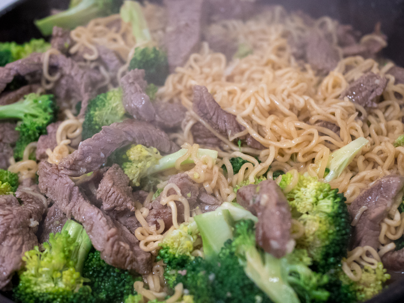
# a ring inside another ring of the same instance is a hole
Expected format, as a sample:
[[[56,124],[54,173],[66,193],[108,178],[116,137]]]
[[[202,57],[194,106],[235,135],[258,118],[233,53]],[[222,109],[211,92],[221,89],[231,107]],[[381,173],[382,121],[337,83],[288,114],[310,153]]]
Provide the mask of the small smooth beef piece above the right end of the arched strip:
[[[187,109],[180,103],[154,101],[156,117],[154,123],[162,130],[177,130],[185,118]]]

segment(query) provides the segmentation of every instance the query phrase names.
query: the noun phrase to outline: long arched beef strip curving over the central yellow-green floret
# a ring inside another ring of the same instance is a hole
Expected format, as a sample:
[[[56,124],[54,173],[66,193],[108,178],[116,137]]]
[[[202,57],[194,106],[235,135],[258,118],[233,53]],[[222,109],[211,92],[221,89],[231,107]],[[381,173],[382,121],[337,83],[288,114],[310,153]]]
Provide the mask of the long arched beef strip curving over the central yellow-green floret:
[[[63,168],[63,174],[78,177],[96,170],[115,149],[131,143],[156,147],[163,154],[179,150],[162,130],[147,122],[127,119],[103,126],[99,133],[82,141],[77,150],[63,158],[59,167]]]

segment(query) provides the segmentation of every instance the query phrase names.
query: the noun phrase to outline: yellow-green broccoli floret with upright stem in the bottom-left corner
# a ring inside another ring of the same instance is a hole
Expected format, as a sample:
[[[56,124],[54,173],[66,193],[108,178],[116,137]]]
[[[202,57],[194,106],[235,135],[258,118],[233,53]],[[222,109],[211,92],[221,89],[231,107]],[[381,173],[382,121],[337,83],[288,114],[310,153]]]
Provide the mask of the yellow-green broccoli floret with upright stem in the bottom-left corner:
[[[87,279],[80,274],[91,248],[82,225],[68,220],[61,233],[49,235],[43,248],[25,252],[13,298],[24,303],[94,302],[90,287],[83,286]]]

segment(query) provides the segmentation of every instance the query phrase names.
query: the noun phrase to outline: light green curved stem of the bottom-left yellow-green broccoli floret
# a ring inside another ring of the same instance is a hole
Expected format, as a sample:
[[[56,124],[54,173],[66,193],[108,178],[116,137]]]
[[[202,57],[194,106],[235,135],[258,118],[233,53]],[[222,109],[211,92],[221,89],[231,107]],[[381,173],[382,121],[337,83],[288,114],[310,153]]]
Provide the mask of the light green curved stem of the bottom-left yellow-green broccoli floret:
[[[67,220],[65,225],[63,225],[61,232],[63,231],[67,231],[69,236],[77,243],[72,252],[72,260],[74,260],[76,263],[74,269],[82,274],[84,261],[86,260],[93,244],[91,244],[91,240],[88,237],[83,225],[77,223],[76,221]]]

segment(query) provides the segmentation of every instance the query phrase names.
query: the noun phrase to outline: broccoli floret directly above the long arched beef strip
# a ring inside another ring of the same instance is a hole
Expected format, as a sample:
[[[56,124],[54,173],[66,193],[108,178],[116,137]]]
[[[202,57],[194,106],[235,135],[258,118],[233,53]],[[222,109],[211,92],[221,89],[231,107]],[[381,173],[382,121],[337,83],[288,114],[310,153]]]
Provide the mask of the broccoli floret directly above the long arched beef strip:
[[[122,89],[114,88],[92,99],[84,116],[82,139],[93,137],[102,126],[122,122],[125,109],[122,104]]]

